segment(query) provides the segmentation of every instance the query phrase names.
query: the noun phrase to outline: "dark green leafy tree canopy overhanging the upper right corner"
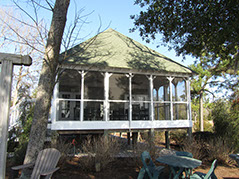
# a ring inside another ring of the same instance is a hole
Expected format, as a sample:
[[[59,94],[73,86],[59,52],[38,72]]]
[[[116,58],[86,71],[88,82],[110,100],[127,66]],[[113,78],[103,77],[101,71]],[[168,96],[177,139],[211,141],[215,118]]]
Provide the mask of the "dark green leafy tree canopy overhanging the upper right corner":
[[[207,56],[220,72],[238,73],[239,0],[136,0],[132,15],[146,42],[162,34],[178,55]],[[231,70],[233,69],[233,71]],[[235,73],[234,73],[235,74]]]

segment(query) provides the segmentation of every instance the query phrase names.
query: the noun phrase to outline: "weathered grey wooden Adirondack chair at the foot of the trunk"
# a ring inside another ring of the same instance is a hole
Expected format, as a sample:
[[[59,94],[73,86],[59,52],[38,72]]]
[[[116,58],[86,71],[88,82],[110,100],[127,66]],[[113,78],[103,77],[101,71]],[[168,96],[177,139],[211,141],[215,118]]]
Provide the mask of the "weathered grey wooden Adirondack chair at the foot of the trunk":
[[[37,156],[35,164],[25,164],[16,167],[12,167],[12,170],[21,170],[24,168],[33,168],[31,179],[40,179],[45,177],[45,179],[51,178],[52,174],[59,169],[56,167],[61,153],[54,148],[47,148],[41,150]]]

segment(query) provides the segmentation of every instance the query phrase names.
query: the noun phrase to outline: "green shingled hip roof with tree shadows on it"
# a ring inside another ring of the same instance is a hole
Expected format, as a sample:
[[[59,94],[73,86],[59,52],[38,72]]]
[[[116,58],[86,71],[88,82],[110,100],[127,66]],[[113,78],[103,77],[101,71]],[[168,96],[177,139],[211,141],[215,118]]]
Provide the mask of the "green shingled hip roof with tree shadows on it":
[[[108,29],[67,51],[67,64],[94,65],[157,72],[192,73],[189,68]]]

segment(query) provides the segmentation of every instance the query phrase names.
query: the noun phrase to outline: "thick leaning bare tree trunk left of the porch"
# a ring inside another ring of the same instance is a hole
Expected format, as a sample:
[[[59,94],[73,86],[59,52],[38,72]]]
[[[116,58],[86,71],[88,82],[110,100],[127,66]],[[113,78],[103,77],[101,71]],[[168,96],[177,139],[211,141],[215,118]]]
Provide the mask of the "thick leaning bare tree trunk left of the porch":
[[[34,162],[43,149],[46,138],[48,114],[55,85],[58,57],[70,0],[56,0],[46,44],[44,62],[37,88],[34,118],[24,164]]]

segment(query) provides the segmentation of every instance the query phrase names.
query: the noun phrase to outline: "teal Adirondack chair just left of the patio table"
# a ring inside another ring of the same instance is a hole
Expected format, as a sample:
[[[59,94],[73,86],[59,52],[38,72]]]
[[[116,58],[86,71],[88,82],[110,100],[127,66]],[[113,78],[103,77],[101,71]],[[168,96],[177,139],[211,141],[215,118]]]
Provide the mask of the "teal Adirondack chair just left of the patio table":
[[[144,151],[141,154],[141,160],[143,162],[143,167],[141,168],[138,179],[150,178],[158,179],[160,173],[163,171],[163,166],[156,166],[152,161],[149,152]]]

